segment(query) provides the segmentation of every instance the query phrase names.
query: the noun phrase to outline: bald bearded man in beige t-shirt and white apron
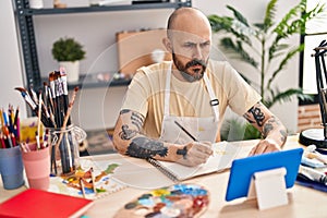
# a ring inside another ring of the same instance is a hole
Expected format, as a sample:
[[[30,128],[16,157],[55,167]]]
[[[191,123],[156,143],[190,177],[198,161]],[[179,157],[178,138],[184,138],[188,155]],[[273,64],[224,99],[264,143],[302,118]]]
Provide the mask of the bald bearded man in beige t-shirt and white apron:
[[[199,10],[175,10],[162,43],[172,61],[138,69],[126,92],[113,133],[121,154],[204,164],[228,106],[263,134],[250,155],[281,149],[282,123],[229,63],[209,59],[211,28]]]

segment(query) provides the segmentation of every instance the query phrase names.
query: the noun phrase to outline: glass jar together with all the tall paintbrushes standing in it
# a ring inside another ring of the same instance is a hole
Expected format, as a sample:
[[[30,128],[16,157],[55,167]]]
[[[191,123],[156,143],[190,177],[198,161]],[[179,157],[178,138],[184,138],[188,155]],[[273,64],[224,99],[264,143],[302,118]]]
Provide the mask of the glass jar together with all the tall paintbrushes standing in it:
[[[22,87],[15,89],[21,92],[45,126],[45,136],[51,146],[51,173],[74,173],[80,167],[80,142],[86,138],[85,131],[71,122],[71,111],[78,87],[75,87],[69,97],[66,73],[60,68],[60,71],[49,73],[49,84],[44,83],[38,96],[33,87],[28,90]]]

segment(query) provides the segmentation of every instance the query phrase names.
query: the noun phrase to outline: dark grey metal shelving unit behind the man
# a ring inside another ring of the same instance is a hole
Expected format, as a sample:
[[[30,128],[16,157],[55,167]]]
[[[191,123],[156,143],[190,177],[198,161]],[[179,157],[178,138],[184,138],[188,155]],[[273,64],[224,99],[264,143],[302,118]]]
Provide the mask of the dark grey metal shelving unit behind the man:
[[[40,87],[45,80],[40,76],[38,56],[37,56],[37,41],[35,38],[34,16],[37,15],[60,15],[60,14],[77,14],[77,13],[102,13],[102,12],[117,12],[117,11],[136,11],[136,10],[154,10],[154,9],[178,9],[181,7],[192,7],[192,0],[174,0],[174,2],[133,2],[131,4],[112,4],[112,5],[92,5],[92,7],[75,7],[64,9],[29,9],[29,0],[14,0],[15,15],[17,21],[19,34],[21,39],[21,47],[24,60],[24,70],[26,74],[26,85]],[[83,80],[83,78],[81,78]],[[92,87],[109,87],[128,85],[130,81],[116,80],[110,82],[97,81],[81,81],[76,84],[71,84],[70,88],[76,85],[83,88]]]

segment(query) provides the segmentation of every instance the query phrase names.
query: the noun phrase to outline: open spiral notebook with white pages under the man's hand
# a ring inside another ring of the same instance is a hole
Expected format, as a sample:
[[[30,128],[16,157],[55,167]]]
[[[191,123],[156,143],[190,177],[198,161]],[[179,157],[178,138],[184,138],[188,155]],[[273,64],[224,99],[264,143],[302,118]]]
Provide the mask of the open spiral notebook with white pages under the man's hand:
[[[213,144],[214,155],[197,167],[186,167],[177,162],[141,159],[121,155],[121,166],[112,177],[122,184],[137,189],[158,189],[177,182],[223,171],[231,167],[233,159],[246,157],[258,141],[220,142]]]

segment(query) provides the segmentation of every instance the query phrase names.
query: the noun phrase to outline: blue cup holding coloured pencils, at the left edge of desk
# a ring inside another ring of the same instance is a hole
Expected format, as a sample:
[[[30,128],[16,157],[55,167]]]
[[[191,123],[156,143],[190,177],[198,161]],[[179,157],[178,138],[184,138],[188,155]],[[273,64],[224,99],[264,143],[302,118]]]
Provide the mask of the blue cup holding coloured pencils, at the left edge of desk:
[[[3,187],[13,190],[22,186],[24,166],[20,146],[0,149],[0,173]]]

